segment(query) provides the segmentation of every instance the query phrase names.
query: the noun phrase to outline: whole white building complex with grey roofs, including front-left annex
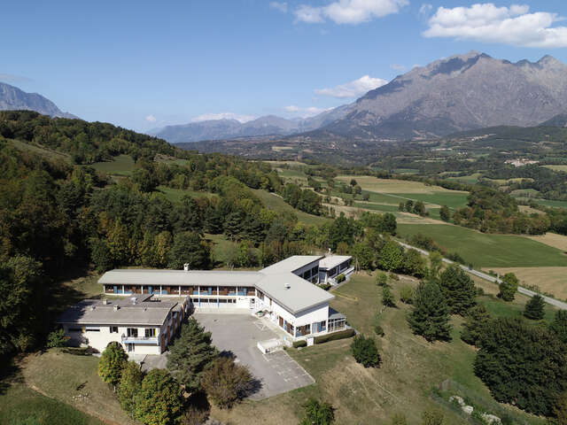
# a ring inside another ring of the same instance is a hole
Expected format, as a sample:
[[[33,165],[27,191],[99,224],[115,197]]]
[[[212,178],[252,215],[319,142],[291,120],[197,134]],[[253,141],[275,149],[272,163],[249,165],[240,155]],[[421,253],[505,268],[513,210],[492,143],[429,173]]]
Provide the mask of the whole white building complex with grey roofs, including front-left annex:
[[[290,340],[322,335],[346,328],[345,316],[329,307],[334,295],[317,286],[321,262],[338,263],[338,270],[350,263],[350,257],[333,257],[293,256],[258,272],[111,270],[98,282],[105,294],[124,300],[84,301],[58,322],[75,344],[103,351],[106,344],[118,341],[136,353],[163,352],[189,308],[263,315]],[[143,301],[133,305],[128,297]],[[176,312],[180,314],[173,326],[169,323]]]

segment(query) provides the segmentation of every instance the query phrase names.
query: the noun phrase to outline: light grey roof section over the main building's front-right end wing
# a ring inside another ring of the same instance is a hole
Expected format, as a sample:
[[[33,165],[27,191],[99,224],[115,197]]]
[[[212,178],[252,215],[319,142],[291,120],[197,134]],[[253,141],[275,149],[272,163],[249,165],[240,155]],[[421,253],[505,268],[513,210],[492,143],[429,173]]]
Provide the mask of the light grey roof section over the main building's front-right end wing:
[[[335,298],[326,290],[292,273],[268,274],[256,283],[256,287],[294,314]]]

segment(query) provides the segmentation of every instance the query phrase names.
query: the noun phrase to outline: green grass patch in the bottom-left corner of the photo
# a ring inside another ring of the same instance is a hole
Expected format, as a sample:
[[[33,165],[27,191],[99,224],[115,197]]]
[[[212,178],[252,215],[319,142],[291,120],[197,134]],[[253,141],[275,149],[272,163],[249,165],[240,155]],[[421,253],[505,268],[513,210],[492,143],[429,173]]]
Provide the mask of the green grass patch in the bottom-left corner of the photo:
[[[0,393],[0,423],[4,425],[103,425],[93,416],[48,398],[23,383],[11,383]]]

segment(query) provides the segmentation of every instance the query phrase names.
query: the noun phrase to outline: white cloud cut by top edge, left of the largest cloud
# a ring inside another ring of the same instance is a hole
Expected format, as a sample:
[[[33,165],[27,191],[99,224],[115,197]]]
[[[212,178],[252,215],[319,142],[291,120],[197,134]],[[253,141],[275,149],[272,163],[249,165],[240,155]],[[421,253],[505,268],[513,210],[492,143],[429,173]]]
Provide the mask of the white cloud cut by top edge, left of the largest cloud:
[[[400,12],[408,0],[338,0],[325,6],[301,4],[293,12],[296,21],[308,24],[330,19],[337,24],[360,24]]]

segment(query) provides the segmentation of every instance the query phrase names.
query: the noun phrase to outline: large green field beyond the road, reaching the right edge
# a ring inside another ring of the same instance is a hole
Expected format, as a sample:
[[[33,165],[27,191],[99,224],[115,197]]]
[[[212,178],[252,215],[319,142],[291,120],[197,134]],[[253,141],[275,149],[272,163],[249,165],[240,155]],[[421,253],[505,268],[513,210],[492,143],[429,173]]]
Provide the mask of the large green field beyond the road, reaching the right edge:
[[[524,236],[489,235],[447,225],[400,224],[401,236],[422,233],[476,267],[567,267],[567,256]]]

